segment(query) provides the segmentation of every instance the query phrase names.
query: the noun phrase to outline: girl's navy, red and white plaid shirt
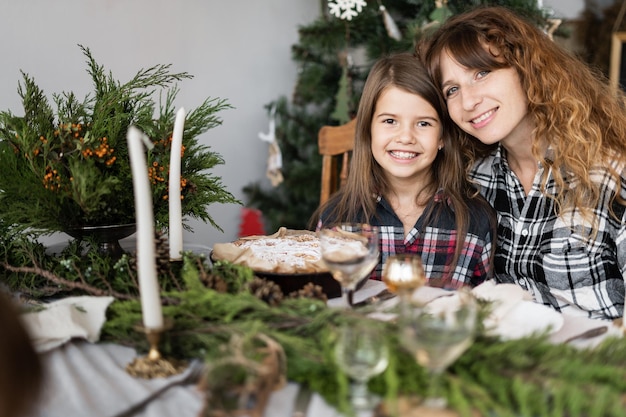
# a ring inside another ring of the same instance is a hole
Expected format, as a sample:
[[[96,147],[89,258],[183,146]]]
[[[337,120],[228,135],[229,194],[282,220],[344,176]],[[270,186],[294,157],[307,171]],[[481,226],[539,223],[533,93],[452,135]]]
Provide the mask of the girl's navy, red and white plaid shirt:
[[[382,197],[378,197],[376,214],[369,223],[379,226],[381,259],[372,271],[371,279],[380,280],[385,261],[390,255],[415,253],[421,254],[424,272],[429,280],[444,277],[446,265],[451,261],[456,250],[456,227],[454,212],[441,193],[435,195],[430,204],[446,204],[435,224],[424,225],[420,217],[410,232],[404,235],[402,221]],[[465,244],[458,263],[446,288],[455,289],[465,285],[476,286],[490,275],[492,231],[489,216],[481,206],[469,203],[470,222],[465,237]],[[428,210],[428,208],[427,208]],[[321,227],[322,222],[318,224]]]

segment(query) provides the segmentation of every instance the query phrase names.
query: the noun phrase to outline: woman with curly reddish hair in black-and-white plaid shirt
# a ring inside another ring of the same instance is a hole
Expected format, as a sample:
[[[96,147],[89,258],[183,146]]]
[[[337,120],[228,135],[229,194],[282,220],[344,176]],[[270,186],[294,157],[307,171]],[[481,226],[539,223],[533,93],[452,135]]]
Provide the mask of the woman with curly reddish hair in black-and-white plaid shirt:
[[[418,46],[498,212],[495,277],[559,311],[623,315],[626,111],[605,79],[501,7]]]

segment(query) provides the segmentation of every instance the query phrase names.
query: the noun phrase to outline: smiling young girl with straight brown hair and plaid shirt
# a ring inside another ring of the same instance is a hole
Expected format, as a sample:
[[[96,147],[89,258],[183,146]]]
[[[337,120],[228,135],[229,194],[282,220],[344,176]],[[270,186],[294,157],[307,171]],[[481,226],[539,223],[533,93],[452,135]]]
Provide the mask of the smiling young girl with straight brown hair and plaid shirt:
[[[412,54],[372,67],[359,103],[350,173],[314,214],[379,226],[380,279],[389,255],[421,254],[430,285],[475,286],[491,271],[495,215],[466,180],[462,136]]]

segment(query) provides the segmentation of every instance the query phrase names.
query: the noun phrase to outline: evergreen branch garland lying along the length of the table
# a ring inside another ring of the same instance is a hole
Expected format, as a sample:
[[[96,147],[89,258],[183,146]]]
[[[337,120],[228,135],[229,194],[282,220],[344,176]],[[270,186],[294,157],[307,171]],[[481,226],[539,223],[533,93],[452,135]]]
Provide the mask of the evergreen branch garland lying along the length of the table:
[[[141,305],[131,255],[112,263],[96,253],[85,257],[71,244],[55,257],[23,234],[0,235],[0,269],[13,292],[41,298],[113,295],[102,339],[147,351],[144,335],[134,330]],[[159,265],[163,312],[174,323],[161,349],[166,356],[211,364],[224,357],[233,337],[264,335],[284,350],[290,381],[319,392],[349,415],[348,378],[333,359],[335,329],[368,320],[386,332],[392,352],[388,369],[370,382],[370,390],[390,406],[399,397],[426,391],[427,374],[400,347],[394,322],[369,319],[364,310],[328,308],[307,294],[278,297],[270,305],[277,297],[252,290],[258,279],[249,268],[211,265],[192,253],[182,265],[167,260]],[[483,308],[485,314],[489,306]],[[620,417],[626,407],[626,338],[580,350],[541,336],[502,342],[481,333],[446,371],[444,388],[450,407],[463,417]]]

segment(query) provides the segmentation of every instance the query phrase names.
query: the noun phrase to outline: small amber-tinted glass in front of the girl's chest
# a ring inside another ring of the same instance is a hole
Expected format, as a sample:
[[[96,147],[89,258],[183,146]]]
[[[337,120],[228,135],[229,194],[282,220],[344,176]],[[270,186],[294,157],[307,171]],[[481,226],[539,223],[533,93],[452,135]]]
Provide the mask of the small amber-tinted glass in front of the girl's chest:
[[[390,255],[383,266],[382,280],[389,291],[398,294],[402,308],[405,308],[413,292],[427,282],[421,256],[408,253]]]

